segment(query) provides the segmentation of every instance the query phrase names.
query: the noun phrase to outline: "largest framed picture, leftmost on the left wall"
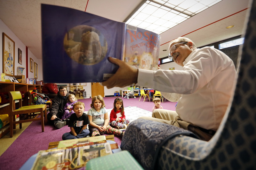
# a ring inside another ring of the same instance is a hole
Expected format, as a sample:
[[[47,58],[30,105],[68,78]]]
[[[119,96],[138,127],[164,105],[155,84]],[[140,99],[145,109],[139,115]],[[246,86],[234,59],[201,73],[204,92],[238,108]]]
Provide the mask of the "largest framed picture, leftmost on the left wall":
[[[14,76],[15,42],[3,33],[3,73]]]

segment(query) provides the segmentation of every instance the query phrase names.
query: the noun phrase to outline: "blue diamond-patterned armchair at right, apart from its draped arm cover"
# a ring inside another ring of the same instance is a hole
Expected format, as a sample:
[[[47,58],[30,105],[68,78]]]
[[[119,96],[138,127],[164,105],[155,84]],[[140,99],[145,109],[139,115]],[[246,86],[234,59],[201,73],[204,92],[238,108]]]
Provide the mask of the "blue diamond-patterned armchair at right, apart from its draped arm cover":
[[[256,0],[244,37],[230,110],[209,141],[181,136],[168,140],[152,169],[256,169]]]

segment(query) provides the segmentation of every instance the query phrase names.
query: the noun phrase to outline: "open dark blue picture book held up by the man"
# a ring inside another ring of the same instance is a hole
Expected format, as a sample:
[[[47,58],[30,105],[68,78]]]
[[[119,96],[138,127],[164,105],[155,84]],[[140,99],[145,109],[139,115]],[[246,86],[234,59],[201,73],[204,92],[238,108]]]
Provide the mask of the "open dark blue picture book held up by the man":
[[[157,70],[160,35],[71,8],[42,4],[41,11],[44,82],[105,81],[118,69],[108,57]]]

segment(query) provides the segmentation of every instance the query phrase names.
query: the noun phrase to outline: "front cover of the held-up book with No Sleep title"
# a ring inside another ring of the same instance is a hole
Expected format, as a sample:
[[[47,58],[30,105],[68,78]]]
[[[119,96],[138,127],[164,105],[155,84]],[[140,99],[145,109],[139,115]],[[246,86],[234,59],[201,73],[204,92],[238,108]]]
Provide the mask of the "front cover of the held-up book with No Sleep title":
[[[123,61],[137,69],[157,70],[160,36],[126,24]]]

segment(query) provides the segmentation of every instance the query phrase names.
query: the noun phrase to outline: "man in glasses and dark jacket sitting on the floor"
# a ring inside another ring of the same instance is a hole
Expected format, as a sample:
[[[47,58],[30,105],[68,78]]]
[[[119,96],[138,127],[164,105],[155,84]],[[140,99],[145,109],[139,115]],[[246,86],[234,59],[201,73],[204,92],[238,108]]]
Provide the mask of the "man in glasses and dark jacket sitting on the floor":
[[[64,106],[67,103],[68,95],[69,93],[66,87],[60,86],[57,96],[52,100],[52,109],[47,115],[49,123],[53,124],[58,129],[66,125],[66,121],[62,121],[61,117],[64,113]]]

